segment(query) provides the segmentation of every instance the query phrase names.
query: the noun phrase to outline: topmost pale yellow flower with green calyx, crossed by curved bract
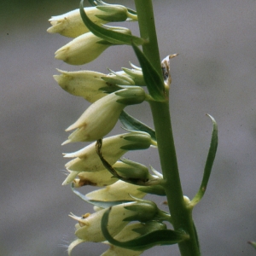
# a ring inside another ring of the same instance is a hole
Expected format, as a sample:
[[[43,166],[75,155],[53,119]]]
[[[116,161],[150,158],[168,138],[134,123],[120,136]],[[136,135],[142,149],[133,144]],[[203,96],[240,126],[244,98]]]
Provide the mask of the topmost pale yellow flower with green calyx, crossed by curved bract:
[[[102,7],[84,8],[86,15],[96,25],[106,24],[109,21],[124,21],[127,19],[127,9],[121,5],[108,5]],[[68,38],[77,38],[89,32],[81,18],[79,9],[68,12],[64,15],[53,16],[49,19],[50,24],[47,32],[60,33]]]

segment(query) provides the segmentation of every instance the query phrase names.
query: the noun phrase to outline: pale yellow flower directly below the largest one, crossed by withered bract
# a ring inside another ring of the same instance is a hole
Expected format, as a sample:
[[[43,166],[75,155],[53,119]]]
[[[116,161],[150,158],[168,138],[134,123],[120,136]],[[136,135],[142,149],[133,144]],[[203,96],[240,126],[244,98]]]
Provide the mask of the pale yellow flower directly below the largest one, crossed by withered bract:
[[[146,149],[151,144],[151,137],[143,131],[133,131],[103,139],[102,155],[110,165],[113,165],[128,150]],[[105,170],[98,154],[95,143],[91,143],[77,152],[65,154],[64,157],[76,157],[67,162],[66,168],[70,172],[65,181],[67,184],[79,174],[79,172],[99,172]]]

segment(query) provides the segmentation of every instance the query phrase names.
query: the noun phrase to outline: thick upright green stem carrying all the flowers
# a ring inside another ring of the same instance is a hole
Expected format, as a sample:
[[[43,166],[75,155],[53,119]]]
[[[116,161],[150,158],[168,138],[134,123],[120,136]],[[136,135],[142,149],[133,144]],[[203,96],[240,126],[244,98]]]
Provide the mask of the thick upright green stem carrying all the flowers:
[[[135,0],[141,37],[147,40],[143,44],[143,53],[158,73],[161,72],[160,54],[154,26],[154,13],[151,0]],[[162,76],[162,74],[161,74]],[[160,164],[166,181],[165,190],[168,207],[172,215],[174,230],[184,230],[189,234],[189,240],[178,244],[183,256],[199,256],[192,210],[186,207],[183,200],[183,190],[177,166],[177,156],[172,136],[172,123],[169,112],[169,100],[164,102],[149,101],[154,119],[154,129],[157,137]]]

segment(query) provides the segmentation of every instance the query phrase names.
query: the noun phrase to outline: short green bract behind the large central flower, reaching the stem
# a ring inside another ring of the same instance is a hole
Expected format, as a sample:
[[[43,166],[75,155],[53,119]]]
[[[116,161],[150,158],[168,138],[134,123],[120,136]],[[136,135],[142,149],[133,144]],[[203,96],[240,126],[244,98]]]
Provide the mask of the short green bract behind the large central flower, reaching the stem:
[[[143,124],[141,121],[135,119],[125,111],[122,111],[119,116],[119,120],[128,130],[147,132],[151,136],[151,139],[156,143],[155,131],[152,128],[148,127],[148,125]]]

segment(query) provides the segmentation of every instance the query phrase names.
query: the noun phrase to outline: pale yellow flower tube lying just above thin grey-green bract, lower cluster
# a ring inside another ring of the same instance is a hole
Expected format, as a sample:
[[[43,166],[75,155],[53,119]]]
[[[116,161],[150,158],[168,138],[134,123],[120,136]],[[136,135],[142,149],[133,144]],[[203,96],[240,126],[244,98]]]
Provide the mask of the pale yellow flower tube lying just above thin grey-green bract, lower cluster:
[[[121,201],[132,200],[130,195],[143,198],[146,193],[137,190],[139,187],[119,180],[103,189],[98,189],[86,195],[90,200],[96,201]]]

